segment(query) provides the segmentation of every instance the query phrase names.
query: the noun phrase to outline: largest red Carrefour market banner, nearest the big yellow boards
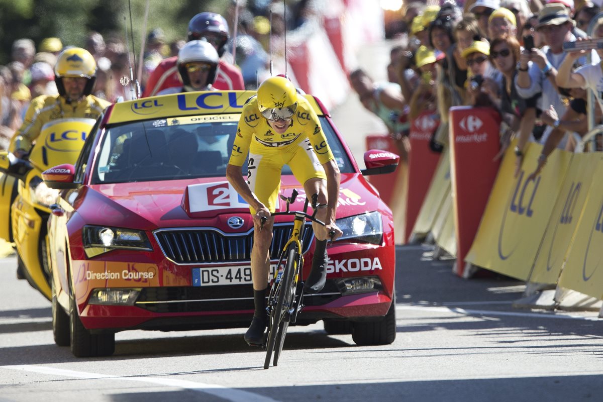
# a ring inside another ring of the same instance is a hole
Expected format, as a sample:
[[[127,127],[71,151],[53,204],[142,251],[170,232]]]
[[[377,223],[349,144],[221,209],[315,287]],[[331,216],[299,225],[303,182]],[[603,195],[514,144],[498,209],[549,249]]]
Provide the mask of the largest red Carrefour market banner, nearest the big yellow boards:
[[[456,225],[456,273],[469,251],[496,179],[500,115],[493,108],[450,108],[450,166]]]

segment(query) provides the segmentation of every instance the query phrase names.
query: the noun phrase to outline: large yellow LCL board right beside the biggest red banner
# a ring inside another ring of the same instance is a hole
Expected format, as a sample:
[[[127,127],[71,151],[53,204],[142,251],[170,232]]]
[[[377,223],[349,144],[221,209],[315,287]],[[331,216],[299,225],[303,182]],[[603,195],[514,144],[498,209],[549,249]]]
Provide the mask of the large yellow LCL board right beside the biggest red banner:
[[[513,146],[505,152],[467,262],[528,280],[573,155],[555,150],[541,174],[530,178],[541,149],[529,143],[517,178]]]

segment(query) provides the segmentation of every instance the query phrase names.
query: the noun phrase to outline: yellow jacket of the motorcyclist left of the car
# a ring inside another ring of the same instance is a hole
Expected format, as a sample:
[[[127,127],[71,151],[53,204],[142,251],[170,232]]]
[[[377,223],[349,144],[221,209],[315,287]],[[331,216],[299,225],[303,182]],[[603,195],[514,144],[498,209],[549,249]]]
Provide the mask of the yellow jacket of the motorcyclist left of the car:
[[[42,126],[49,121],[63,118],[96,119],[110,104],[110,102],[93,95],[71,103],[60,95],[38,96],[31,101],[23,124],[11,139],[9,150],[14,152],[22,149],[29,152],[33,142],[40,135]]]

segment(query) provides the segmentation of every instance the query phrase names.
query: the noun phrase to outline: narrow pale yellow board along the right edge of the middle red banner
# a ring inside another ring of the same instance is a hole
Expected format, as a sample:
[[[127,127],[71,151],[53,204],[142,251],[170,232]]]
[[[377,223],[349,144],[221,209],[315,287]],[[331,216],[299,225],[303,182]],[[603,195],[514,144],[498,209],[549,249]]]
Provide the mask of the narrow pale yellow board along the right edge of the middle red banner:
[[[428,234],[434,227],[435,218],[438,216],[440,209],[444,203],[444,198],[450,193],[450,152],[446,147],[438,167],[435,170],[434,178],[431,181],[425,201],[421,206],[421,210],[417,216],[412,228],[412,233],[425,235]]]

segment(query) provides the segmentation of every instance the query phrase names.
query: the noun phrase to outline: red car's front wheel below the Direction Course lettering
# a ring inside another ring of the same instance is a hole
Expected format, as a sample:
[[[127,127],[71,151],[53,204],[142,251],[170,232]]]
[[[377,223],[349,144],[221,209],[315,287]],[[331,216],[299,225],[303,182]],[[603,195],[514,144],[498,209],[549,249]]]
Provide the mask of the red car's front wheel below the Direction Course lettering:
[[[115,351],[115,334],[91,334],[81,323],[73,295],[69,298],[69,335],[75,357],[111,356]]]

